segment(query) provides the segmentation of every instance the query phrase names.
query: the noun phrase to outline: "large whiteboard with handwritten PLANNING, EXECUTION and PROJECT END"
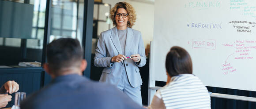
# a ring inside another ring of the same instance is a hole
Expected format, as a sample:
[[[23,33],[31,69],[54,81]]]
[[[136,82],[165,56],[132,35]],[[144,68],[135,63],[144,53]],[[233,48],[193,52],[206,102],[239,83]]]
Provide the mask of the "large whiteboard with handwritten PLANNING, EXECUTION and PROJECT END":
[[[256,0],[156,0],[150,80],[166,81],[172,46],[211,87],[256,91]]]

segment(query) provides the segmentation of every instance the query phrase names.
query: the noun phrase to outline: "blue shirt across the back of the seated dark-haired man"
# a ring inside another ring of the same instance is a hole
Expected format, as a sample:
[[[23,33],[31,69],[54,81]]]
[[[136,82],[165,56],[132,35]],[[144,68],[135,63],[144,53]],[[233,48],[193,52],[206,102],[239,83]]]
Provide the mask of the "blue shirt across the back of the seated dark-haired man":
[[[32,94],[23,102],[22,109],[33,109],[35,107],[37,107],[36,109],[38,107],[43,109],[47,106],[49,107],[49,105],[53,105],[51,107],[56,105],[68,107],[72,103],[75,103],[76,106],[88,106],[99,109],[101,108],[98,105],[99,103],[103,107],[107,107],[107,109],[117,109],[115,107],[120,107],[118,109],[139,109],[139,106],[132,99],[128,98],[127,95],[123,94],[114,85],[87,80],[86,82],[79,81],[75,89],[63,89],[62,91],[53,92],[53,87],[56,87],[54,85],[56,84],[51,84]],[[69,102],[66,102],[67,99]],[[66,103],[63,104],[64,102]]]

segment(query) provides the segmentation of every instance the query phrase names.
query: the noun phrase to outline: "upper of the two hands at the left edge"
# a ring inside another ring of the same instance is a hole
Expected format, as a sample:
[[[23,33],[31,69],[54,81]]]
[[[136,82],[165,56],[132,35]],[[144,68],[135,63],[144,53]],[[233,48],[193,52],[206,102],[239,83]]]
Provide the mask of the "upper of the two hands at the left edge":
[[[9,80],[4,84],[4,89],[7,93],[12,94],[19,91],[19,84],[17,84],[14,80]]]

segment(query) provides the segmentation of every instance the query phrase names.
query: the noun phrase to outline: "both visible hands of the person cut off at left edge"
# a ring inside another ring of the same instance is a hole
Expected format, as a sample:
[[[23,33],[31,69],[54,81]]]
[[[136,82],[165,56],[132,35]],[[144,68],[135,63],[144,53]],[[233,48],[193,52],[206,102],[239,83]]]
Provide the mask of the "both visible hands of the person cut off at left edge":
[[[17,91],[19,91],[19,84],[15,81],[7,81],[0,88],[0,108],[4,108],[11,101],[11,95],[8,95],[8,93],[12,94]]]

